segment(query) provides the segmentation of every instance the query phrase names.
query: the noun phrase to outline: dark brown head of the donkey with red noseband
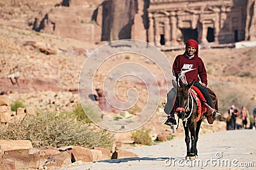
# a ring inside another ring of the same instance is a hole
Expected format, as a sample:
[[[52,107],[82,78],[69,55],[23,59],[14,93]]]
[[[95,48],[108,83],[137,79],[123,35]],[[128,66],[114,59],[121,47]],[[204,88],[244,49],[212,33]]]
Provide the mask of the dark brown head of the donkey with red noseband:
[[[189,110],[189,89],[193,85],[194,81],[188,83],[179,83],[177,86],[177,96],[176,96],[176,106],[177,106],[177,116],[184,120],[186,117],[186,112]]]

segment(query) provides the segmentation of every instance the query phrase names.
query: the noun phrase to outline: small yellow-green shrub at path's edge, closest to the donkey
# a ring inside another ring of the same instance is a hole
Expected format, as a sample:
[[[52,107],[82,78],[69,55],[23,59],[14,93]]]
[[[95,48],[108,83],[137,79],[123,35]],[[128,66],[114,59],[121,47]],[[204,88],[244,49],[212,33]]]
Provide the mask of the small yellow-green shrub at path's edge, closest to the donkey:
[[[131,138],[134,140],[134,143],[152,145],[152,139],[150,138],[149,130],[132,132]]]

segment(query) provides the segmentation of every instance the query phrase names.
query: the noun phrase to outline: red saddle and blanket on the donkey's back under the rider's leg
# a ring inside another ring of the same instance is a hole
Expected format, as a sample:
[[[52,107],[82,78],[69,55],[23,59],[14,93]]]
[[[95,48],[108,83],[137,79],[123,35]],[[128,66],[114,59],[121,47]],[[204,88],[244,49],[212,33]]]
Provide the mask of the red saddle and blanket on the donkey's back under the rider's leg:
[[[192,90],[189,90],[189,92],[196,100],[196,110],[197,110],[197,114],[198,114],[198,117],[196,118],[196,122],[198,122],[198,120],[200,120],[202,117],[204,117],[204,113],[207,112],[207,105],[205,104],[206,100],[205,100],[205,97],[203,96],[202,92],[197,87],[192,86],[191,89]],[[215,109],[218,110],[218,99],[217,99],[216,94],[209,87],[207,87],[207,90],[212,98],[212,102],[214,104]],[[207,117],[207,121],[209,124],[213,124],[214,119],[212,118],[211,114],[205,115],[205,117]]]

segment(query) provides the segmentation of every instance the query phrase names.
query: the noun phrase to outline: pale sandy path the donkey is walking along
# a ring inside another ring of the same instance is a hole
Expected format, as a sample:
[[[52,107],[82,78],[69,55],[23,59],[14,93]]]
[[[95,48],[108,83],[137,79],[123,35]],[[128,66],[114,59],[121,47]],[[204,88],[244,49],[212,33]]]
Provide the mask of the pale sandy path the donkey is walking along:
[[[138,158],[102,160],[61,169],[255,169],[256,131],[221,131],[202,134],[198,139],[198,159],[186,161],[184,139],[129,149]],[[171,160],[171,161],[170,161]],[[189,167],[191,166],[191,167]]]

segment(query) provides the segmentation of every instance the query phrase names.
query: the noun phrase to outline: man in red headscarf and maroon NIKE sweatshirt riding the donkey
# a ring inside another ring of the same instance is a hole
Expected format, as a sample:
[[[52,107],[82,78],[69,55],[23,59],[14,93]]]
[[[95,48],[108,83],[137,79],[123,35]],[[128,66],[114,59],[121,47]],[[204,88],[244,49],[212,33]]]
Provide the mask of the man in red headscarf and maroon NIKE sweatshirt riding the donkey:
[[[207,90],[207,72],[204,66],[204,62],[200,57],[198,57],[198,43],[194,39],[189,39],[186,42],[186,50],[182,55],[177,55],[173,62],[173,72],[176,77],[176,81],[179,85],[179,82],[189,83],[194,81],[194,86],[199,89],[205,100],[205,105],[208,106],[208,109],[211,111],[211,116],[213,120],[220,118],[221,114],[215,109],[212,102],[212,98]],[[174,85],[174,83],[173,83]],[[166,125],[176,125],[174,114],[176,112],[173,98],[175,97],[175,88],[167,94],[167,103],[164,106],[164,112],[166,113],[168,119],[164,124]],[[207,118],[208,120],[208,118]]]

